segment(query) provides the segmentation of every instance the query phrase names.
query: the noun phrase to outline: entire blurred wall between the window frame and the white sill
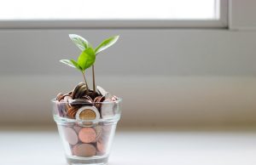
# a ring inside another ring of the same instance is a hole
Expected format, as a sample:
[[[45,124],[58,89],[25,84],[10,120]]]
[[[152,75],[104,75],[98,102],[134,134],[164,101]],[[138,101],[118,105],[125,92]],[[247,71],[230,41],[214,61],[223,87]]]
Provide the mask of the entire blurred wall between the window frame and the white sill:
[[[82,81],[58,60],[120,34],[96,61],[97,83],[124,98],[122,126],[256,124],[256,32],[228,30],[1,30],[0,121],[53,123],[49,100]]]

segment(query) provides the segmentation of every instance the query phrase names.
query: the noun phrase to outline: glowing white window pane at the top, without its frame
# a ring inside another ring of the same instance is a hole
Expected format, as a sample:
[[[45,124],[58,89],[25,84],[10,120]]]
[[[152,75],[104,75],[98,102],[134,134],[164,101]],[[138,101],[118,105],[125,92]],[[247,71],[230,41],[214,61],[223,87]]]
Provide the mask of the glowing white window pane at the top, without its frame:
[[[219,0],[3,0],[0,20],[216,20]]]

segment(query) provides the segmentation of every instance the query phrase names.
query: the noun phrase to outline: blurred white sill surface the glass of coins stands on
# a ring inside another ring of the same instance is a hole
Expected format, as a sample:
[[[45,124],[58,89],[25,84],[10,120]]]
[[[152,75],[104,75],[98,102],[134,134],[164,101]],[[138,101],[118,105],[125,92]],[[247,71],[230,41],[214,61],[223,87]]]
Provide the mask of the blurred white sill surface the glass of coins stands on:
[[[66,164],[56,130],[15,130],[0,131],[2,164]],[[109,164],[253,165],[255,139],[255,130],[118,130]]]

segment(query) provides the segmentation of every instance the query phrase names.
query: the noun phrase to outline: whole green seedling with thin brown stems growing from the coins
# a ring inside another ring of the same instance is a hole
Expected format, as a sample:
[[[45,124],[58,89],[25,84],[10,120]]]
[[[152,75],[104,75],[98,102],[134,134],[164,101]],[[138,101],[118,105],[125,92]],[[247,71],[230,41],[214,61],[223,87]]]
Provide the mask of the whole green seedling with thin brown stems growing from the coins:
[[[95,82],[95,71],[94,71],[94,63],[96,60],[96,55],[105,50],[106,48],[111,47],[114,43],[117,42],[119,36],[109,37],[104,40],[101,44],[99,44],[96,48],[93,48],[92,45],[84,39],[84,37],[80,37],[76,34],[69,34],[70,39],[76,46],[82,51],[79,55],[77,61],[75,60],[60,60],[61,63],[65,65],[72,66],[73,68],[78,69],[82,72],[84,77],[84,83],[86,84],[86,91],[88,93],[89,87],[85,78],[85,70],[92,66],[92,79],[93,79],[93,94],[96,94],[96,82]]]

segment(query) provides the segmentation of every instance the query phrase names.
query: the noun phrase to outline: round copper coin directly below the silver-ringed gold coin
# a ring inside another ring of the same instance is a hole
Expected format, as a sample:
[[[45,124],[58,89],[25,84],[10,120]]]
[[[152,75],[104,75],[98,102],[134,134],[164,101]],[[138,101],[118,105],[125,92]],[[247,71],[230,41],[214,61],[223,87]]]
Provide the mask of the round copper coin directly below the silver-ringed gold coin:
[[[94,128],[81,128],[79,139],[84,143],[91,143],[96,139],[96,130]]]

